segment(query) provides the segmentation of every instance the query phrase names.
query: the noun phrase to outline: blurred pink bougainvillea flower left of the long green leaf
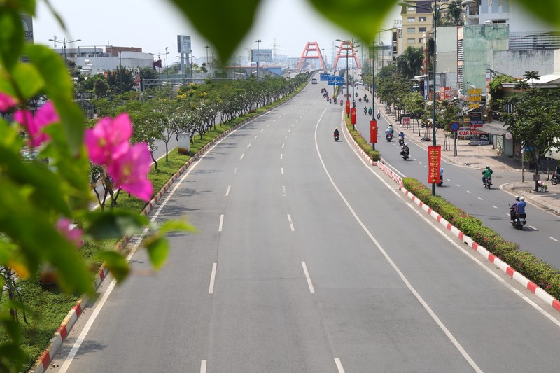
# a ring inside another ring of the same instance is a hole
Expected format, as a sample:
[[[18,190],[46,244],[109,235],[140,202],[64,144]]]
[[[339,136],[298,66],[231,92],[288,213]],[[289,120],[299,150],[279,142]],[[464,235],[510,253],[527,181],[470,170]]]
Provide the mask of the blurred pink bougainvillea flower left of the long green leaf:
[[[31,111],[18,110],[13,118],[27,129],[29,146],[31,147],[39,146],[41,143],[50,140],[50,136],[43,132],[43,129],[59,121],[59,116],[51,101],[41,106],[35,117],[31,114]]]

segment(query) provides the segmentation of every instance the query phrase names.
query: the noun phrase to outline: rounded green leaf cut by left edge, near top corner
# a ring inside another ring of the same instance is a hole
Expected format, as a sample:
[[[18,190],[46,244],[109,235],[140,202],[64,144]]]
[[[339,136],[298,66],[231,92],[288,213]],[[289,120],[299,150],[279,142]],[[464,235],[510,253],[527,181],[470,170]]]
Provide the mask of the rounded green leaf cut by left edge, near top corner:
[[[11,70],[18,63],[23,45],[23,26],[18,12],[0,6],[0,64]]]

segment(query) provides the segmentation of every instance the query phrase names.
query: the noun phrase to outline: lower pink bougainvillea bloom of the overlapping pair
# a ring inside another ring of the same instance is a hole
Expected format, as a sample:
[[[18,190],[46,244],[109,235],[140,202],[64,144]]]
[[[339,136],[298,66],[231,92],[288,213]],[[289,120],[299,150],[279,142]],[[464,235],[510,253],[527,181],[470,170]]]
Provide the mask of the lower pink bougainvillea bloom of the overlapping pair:
[[[137,143],[127,153],[113,159],[107,171],[116,188],[121,188],[144,201],[152,197],[153,186],[148,180],[152,157],[146,143]]]

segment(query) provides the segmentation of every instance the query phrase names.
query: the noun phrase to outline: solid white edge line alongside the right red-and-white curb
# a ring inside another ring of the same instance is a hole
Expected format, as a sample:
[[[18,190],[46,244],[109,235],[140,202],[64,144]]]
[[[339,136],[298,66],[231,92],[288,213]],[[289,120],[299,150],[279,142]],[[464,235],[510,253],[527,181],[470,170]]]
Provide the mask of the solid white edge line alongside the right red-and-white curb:
[[[348,142],[348,141],[347,141]],[[439,232],[442,237],[444,237],[445,239],[447,239],[447,241],[449,241],[450,244],[452,244],[453,246],[455,246],[456,248],[458,248],[459,250],[461,250],[461,252],[463,252],[465,255],[467,255],[470,259],[472,259],[475,263],[477,263],[477,265],[479,265],[480,267],[482,267],[482,269],[484,269],[486,272],[488,272],[489,274],[491,274],[491,276],[494,277],[494,279],[500,281],[500,283],[502,283],[504,286],[506,286],[508,289],[510,289],[514,294],[518,295],[519,297],[521,297],[522,300],[524,300],[525,302],[527,302],[528,304],[530,304],[534,309],[536,309],[538,312],[540,312],[540,314],[542,314],[543,316],[545,316],[546,318],[548,318],[550,321],[552,321],[552,323],[554,323],[556,326],[558,326],[560,328],[560,321],[556,320],[556,318],[554,318],[551,314],[549,314],[548,311],[546,311],[545,309],[542,309],[542,307],[540,307],[538,304],[536,304],[535,302],[533,302],[531,299],[529,299],[526,295],[524,295],[523,293],[521,293],[519,290],[517,290],[516,288],[514,288],[510,283],[507,283],[507,281],[505,281],[505,279],[503,279],[502,277],[500,277],[500,275],[492,272],[491,269],[489,269],[488,267],[486,267],[486,265],[484,265],[484,262],[481,262],[480,260],[478,260],[477,257],[475,257],[475,255],[473,255],[470,251],[468,251],[467,249],[465,249],[463,246],[459,245],[454,239],[452,239],[451,237],[447,236],[447,234],[445,233],[446,231],[442,230],[442,227],[440,225],[437,225],[433,222],[433,220],[430,220],[429,218],[427,218],[426,216],[423,215],[423,213],[421,211],[416,210],[416,208],[414,207],[413,204],[410,204],[408,202],[408,200],[405,198],[404,195],[402,195],[402,193],[398,190],[393,188],[393,186],[391,186],[390,184],[388,184],[386,181],[383,180],[383,178],[381,178],[381,176],[379,176],[374,169],[372,169],[372,167],[370,167],[369,164],[367,164],[363,158],[361,157],[361,155],[358,154],[358,152],[356,152],[356,150],[349,144],[349,146],[351,147],[351,149],[353,150],[354,154],[356,155],[356,157],[358,157],[358,159],[362,162],[362,164],[372,173],[374,174],[377,178],[379,178],[379,180],[381,181],[381,183],[384,183],[384,185],[390,189],[393,194],[397,195],[400,199],[402,199],[402,201],[404,201],[410,209],[412,209],[413,211],[416,212],[416,214],[418,216],[420,216],[421,218],[423,218],[424,221],[426,221],[426,223],[428,223],[431,227],[433,227],[434,230],[436,230],[437,232]],[[509,213],[506,213],[506,216],[510,216]],[[552,237],[551,237],[552,238]]]

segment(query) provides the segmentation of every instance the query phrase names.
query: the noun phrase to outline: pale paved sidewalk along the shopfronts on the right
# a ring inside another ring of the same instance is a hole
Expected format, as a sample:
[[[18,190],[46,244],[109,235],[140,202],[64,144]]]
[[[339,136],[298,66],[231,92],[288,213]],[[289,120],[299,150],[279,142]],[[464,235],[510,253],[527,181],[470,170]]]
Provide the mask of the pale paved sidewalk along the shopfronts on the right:
[[[420,128],[419,134],[417,125],[414,129],[415,132],[413,132],[412,125],[409,125],[408,129],[400,127],[395,115],[386,113],[379,101],[375,101],[375,104],[376,108],[381,108],[383,118],[395,127],[395,138],[398,132],[402,131],[409,143],[414,142],[425,149],[432,145],[431,140],[420,141],[421,136],[426,134],[426,128]],[[411,122],[414,122],[414,120]],[[384,129],[380,129],[380,131],[383,133]],[[428,129],[428,137],[431,136],[432,129],[430,128]],[[491,145],[470,146],[468,140],[457,140],[457,155],[453,155],[454,140],[448,139],[445,143],[445,133],[442,129],[437,129],[435,139],[436,143],[442,146],[442,159],[449,163],[480,170],[489,164],[494,171],[519,171],[519,182],[501,185],[501,189],[512,195],[524,196],[529,204],[560,216],[560,185],[552,185],[550,181],[544,180],[547,177],[545,174],[541,174],[541,181],[548,185],[547,192],[535,192],[535,182],[531,172],[525,171],[525,183],[521,183],[521,161],[505,155],[498,155],[497,150],[493,149]]]

